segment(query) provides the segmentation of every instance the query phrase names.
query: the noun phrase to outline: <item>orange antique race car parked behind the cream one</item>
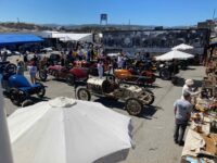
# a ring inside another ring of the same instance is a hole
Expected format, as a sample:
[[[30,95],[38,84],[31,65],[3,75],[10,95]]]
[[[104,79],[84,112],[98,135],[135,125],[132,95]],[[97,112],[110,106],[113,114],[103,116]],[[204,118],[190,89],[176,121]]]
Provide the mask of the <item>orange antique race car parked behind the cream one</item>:
[[[129,70],[115,70],[114,72],[115,78],[117,78],[120,83],[129,83],[129,84],[136,84],[139,86],[144,85],[152,85],[156,77],[154,73],[150,71],[142,71],[141,73],[129,68]]]

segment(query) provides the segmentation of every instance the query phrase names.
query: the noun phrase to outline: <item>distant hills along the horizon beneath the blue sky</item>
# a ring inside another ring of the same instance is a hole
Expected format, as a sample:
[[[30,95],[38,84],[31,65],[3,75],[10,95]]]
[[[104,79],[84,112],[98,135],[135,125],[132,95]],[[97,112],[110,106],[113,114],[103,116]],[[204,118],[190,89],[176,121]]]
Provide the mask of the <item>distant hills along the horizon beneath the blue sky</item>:
[[[84,25],[60,25],[60,24],[29,24],[29,23],[0,23],[0,33],[11,32],[40,32],[40,30],[61,30],[75,33],[101,33],[104,30],[144,30],[154,29],[157,26],[150,25],[99,25],[99,24],[84,24]],[[161,28],[161,27],[159,27]],[[190,28],[189,26],[179,27],[164,27],[164,28]]]

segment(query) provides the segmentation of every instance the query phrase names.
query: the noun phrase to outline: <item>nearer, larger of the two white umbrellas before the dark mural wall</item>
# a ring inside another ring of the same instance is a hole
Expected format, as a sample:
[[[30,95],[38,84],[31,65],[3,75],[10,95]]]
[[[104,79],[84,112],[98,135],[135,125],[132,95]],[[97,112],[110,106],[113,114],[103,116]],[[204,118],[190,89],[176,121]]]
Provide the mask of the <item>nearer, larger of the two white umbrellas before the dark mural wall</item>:
[[[156,57],[156,61],[169,61],[173,59],[187,60],[191,58],[194,58],[194,55],[182,52],[182,51],[173,50],[163,55]]]

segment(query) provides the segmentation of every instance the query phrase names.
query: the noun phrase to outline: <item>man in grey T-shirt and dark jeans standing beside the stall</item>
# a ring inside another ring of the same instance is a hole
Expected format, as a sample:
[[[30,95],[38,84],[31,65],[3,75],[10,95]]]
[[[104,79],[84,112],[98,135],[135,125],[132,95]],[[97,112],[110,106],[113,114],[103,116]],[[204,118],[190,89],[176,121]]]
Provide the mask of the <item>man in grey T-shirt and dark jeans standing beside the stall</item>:
[[[174,103],[175,113],[175,133],[174,141],[179,146],[183,146],[183,136],[191,117],[191,110],[193,105],[191,104],[191,95],[189,92],[183,93],[183,99],[179,99]]]

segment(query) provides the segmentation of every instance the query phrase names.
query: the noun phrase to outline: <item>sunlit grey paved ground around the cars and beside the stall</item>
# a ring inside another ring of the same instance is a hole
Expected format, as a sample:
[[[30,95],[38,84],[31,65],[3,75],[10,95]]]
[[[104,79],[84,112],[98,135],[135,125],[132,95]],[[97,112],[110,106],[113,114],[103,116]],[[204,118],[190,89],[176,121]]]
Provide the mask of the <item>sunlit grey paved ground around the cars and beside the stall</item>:
[[[187,71],[181,71],[178,86],[170,82],[157,79],[153,91],[155,102],[152,106],[145,108],[140,117],[131,116],[133,124],[133,140],[136,148],[131,149],[127,159],[123,163],[178,163],[180,161],[182,147],[173,141],[174,131],[174,101],[181,97],[181,88],[186,78],[195,79],[196,85],[201,85],[201,79],[205,75],[204,67],[191,66]],[[27,75],[28,77],[28,75]],[[49,78],[43,83],[47,88],[44,100],[55,97],[75,98],[74,87],[64,82],[56,82]],[[122,114],[128,115],[124,111],[123,103],[110,100],[93,99]],[[8,114],[16,110],[9,99],[4,99],[4,108]]]

